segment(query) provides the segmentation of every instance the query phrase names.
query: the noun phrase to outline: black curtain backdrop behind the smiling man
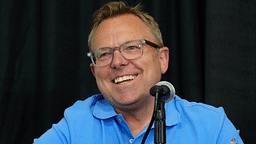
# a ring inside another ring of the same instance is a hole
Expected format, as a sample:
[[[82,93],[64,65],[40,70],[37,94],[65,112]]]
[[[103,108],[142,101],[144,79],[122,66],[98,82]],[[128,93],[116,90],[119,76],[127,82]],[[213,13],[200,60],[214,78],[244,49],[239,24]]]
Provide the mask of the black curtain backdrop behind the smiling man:
[[[28,144],[77,100],[99,93],[90,71],[92,14],[109,0],[0,0],[0,144]],[[189,101],[223,107],[256,137],[255,0],[141,3],[170,49],[162,79]]]

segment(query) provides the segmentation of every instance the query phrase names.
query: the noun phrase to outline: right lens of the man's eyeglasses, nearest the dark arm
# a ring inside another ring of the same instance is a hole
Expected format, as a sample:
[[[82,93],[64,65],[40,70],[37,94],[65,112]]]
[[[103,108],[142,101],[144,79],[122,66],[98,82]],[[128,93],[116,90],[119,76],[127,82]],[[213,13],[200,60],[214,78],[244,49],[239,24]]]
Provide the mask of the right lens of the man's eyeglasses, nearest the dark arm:
[[[129,41],[121,46],[121,53],[126,59],[135,59],[142,55],[141,41]]]

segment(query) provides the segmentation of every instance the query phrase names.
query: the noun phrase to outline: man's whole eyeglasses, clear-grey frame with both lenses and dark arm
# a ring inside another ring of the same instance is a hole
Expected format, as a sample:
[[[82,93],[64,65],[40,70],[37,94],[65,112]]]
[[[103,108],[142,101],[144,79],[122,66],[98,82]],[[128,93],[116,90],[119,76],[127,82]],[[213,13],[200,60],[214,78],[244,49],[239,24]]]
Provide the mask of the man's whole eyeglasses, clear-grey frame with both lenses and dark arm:
[[[113,61],[115,50],[120,51],[122,56],[127,60],[141,57],[143,55],[144,44],[148,44],[154,48],[160,48],[157,44],[147,40],[131,40],[123,43],[120,47],[103,47],[90,51],[87,53],[87,56],[91,58],[91,61],[95,66],[103,67],[109,65]]]

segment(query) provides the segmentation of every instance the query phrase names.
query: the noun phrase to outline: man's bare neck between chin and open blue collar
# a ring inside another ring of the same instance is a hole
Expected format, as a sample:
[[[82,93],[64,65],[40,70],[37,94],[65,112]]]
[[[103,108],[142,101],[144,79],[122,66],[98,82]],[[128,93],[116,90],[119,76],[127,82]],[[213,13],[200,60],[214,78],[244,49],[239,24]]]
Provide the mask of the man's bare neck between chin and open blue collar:
[[[122,114],[124,120],[129,125],[132,134],[136,137],[150,123],[155,99],[152,97],[148,102],[140,104],[133,109],[115,109],[117,113]]]

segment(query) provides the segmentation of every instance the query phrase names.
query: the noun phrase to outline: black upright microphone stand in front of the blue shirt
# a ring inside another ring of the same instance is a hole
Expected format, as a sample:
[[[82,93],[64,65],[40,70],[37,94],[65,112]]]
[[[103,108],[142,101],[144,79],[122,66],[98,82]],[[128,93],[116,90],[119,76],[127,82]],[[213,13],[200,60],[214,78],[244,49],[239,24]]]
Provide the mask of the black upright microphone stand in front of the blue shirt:
[[[166,143],[165,102],[156,93],[154,143]]]

